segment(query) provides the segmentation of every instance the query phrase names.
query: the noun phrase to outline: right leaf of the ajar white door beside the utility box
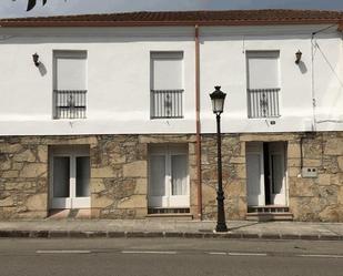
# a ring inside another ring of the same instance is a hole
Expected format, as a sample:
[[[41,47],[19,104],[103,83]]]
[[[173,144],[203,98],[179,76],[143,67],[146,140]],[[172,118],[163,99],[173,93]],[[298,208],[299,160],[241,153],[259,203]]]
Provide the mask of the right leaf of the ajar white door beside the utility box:
[[[270,191],[274,205],[286,205],[285,144],[269,143]]]

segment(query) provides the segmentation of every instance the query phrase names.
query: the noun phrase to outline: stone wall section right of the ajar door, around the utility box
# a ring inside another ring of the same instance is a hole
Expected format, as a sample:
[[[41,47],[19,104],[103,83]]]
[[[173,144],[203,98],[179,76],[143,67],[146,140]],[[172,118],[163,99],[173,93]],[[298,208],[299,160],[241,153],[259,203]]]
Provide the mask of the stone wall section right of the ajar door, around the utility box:
[[[343,222],[343,132],[303,135],[303,166],[315,178],[301,177],[301,139],[289,146],[289,198],[296,221]]]

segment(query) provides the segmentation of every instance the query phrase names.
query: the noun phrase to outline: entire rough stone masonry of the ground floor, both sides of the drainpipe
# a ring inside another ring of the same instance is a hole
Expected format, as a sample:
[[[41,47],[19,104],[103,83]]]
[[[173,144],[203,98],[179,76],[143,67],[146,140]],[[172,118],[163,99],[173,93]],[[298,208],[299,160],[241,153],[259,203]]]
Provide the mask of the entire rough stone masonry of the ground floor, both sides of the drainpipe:
[[[296,221],[343,222],[343,133],[223,134],[223,185],[229,219],[246,215],[245,143],[287,144],[287,201]],[[82,135],[0,137],[0,219],[49,215],[51,146],[89,145],[93,218],[144,218],[148,212],[148,156],[154,143],[182,143],[189,149],[190,211],[196,218],[195,135]],[[302,145],[302,151],[301,151]],[[303,159],[301,159],[301,152]],[[302,161],[301,161],[302,160]],[[303,178],[303,166],[319,176]],[[216,140],[202,135],[202,211],[216,216]]]

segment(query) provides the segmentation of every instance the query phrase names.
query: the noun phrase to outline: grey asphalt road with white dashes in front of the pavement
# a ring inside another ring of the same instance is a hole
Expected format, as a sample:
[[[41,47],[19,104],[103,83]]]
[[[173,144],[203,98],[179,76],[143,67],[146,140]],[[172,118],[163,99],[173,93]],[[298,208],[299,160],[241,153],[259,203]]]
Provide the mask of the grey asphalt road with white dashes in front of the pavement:
[[[0,239],[1,276],[342,276],[343,242]]]

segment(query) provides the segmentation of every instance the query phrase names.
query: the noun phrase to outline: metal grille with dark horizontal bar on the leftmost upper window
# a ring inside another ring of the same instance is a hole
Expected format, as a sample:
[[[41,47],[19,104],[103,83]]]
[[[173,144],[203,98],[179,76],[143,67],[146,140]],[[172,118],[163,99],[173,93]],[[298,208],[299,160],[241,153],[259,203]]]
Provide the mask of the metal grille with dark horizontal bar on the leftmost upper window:
[[[87,90],[54,90],[54,119],[84,119]]]

